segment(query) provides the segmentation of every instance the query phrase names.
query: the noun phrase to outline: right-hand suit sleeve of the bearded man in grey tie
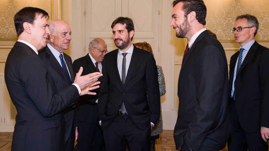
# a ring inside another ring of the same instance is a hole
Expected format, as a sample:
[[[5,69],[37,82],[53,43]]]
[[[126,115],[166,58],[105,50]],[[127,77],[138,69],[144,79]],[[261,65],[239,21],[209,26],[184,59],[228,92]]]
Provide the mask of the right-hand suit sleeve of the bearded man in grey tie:
[[[160,118],[160,90],[155,59],[149,54],[146,66],[146,81],[149,95],[150,121],[156,124]]]

